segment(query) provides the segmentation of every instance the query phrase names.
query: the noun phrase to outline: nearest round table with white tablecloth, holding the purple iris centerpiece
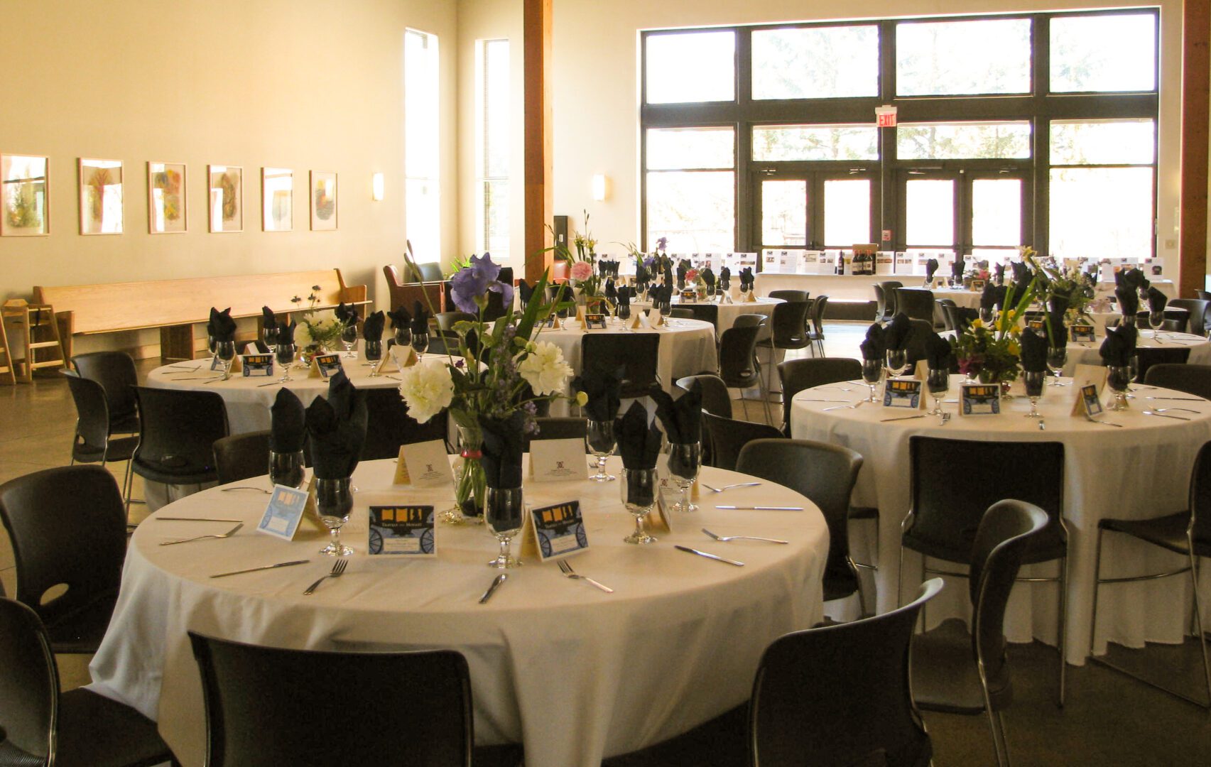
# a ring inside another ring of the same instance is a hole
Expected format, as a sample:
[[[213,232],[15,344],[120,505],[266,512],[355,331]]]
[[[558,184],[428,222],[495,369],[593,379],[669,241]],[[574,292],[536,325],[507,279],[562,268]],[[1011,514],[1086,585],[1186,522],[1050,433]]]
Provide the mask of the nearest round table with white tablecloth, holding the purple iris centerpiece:
[[[612,458],[608,465],[616,474],[621,464]],[[590,549],[572,561],[614,593],[564,578],[555,562],[523,557],[524,566],[507,571],[509,580],[480,605],[498,572],[484,566],[498,546],[482,526],[438,523],[436,559],[366,555],[368,505],[442,510],[453,502],[452,490],[392,486],[394,473],[391,460],[357,468],[360,492],[343,531],[356,554],[342,578],[312,596],[303,589],[327,573],[332,560],[317,554],[323,543],[317,532],[294,542],[254,532],[268,496],[212,488],[150,516],[131,539],[117,606],[90,665],[92,689],[156,720],[182,763],[200,765],[206,721],[186,630],[310,649],[454,648],[471,669],[477,743],[521,742],[532,767],[596,767],[604,756],[658,743],[739,705],[769,642],[822,617],[828,531],[819,509],[785,487],[767,482],[718,498],[803,511],[721,510],[704,497],[701,510],[675,515],[672,533],[636,546],[622,543],[633,521],[618,499],[618,482],[530,482],[527,503],[580,499]],[[729,483],[744,475],[704,469],[702,479]],[[170,539],[225,532],[231,523],[160,516],[239,519],[245,526],[231,538],[161,548]],[[718,543],[702,526],[790,545]],[[208,577],[300,559],[310,562]]]

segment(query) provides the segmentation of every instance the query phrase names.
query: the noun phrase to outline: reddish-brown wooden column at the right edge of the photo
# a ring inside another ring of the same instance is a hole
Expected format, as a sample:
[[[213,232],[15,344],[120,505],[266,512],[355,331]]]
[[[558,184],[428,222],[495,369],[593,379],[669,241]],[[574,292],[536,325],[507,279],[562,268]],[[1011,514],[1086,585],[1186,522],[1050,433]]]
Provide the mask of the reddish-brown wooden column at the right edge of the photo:
[[[1181,263],[1177,290],[1194,298],[1207,265],[1207,120],[1211,87],[1211,0],[1182,4],[1182,189]]]

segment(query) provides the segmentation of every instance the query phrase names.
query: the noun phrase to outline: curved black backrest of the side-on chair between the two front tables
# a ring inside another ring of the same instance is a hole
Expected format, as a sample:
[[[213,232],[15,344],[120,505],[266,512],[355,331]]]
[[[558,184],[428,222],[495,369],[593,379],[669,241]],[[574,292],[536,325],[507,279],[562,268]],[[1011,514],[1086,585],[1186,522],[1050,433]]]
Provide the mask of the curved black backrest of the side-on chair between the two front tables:
[[[971,651],[983,665],[993,710],[1004,709],[1012,699],[1004,630],[1009,594],[1029,550],[1052,526],[1048,513],[1037,505],[1000,500],[980,520],[971,545]]]

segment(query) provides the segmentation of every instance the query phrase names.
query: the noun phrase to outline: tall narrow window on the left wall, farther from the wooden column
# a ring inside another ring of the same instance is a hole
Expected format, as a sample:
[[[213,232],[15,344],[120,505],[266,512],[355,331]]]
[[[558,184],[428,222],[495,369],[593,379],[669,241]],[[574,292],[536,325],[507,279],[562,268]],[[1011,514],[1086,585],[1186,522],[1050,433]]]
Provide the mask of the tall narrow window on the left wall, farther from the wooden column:
[[[403,33],[404,217],[413,253],[441,259],[440,144],[437,139],[437,35]]]

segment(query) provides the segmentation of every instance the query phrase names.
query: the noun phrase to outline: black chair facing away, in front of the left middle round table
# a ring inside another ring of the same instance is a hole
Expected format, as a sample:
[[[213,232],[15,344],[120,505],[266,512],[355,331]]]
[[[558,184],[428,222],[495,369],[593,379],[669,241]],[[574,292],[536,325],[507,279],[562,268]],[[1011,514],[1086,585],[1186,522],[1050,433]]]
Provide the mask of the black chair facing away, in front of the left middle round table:
[[[134,474],[166,485],[218,481],[214,441],[228,435],[223,397],[151,387],[134,387],[134,393],[139,403]]]

